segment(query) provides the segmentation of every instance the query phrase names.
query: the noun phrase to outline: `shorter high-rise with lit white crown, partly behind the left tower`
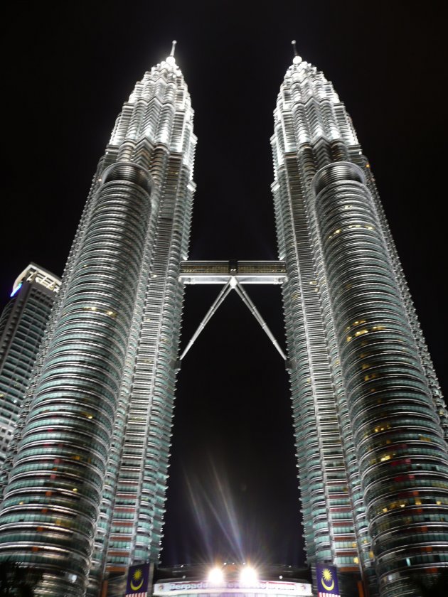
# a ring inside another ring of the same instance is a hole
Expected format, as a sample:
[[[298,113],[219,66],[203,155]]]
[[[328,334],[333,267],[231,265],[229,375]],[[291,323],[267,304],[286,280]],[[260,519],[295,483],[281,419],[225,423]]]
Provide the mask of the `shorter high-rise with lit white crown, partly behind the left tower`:
[[[60,279],[30,264],[0,316],[0,466],[16,426]]]

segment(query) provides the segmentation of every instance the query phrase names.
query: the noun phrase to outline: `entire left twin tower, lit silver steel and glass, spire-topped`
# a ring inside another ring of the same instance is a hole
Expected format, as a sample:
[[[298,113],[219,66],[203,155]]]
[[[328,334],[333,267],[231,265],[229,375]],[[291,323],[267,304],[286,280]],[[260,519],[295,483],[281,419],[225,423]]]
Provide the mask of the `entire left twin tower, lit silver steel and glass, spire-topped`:
[[[46,595],[159,555],[196,146],[171,54],[100,159],[5,461],[0,559],[43,569]]]

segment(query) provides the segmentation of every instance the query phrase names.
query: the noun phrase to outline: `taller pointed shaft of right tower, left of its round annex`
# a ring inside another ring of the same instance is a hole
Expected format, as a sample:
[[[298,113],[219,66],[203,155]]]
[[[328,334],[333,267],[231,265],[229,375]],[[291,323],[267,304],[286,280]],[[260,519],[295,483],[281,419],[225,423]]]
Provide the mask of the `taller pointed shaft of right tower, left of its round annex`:
[[[357,141],[331,83],[298,56],[284,77],[274,121],[272,190],[279,257],[288,272],[284,315],[306,555],[311,566],[337,566],[343,592],[371,564],[370,545],[360,533],[362,504],[353,516],[356,467],[346,460],[350,429],[341,428],[345,394],[310,191],[316,170],[347,158],[347,144]]]

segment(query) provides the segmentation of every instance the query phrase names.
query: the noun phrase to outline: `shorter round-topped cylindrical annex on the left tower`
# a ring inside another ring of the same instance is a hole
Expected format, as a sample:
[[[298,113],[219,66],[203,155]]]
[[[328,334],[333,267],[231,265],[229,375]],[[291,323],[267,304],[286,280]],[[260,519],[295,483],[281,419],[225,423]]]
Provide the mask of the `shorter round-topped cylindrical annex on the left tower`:
[[[82,596],[150,215],[134,163],[102,174],[48,343],[0,514],[0,557]]]

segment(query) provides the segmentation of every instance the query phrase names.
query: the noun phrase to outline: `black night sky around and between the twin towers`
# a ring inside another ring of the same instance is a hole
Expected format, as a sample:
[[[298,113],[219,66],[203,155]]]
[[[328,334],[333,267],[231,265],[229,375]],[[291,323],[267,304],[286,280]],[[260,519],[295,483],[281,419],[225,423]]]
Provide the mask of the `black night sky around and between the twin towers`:
[[[446,387],[446,32],[436,4],[16,2],[2,54],[1,305],[29,262],[62,273],[122,103],[172,39],[198,136],[191,259],[276,259],[272,111],[297,39],[353,118]],[[246,289],[284,345],[279,287]],[[218,291],[187,288],[182,345]],[[284,362],[235,293],[183,360],[170,475],[164,564],[219,554],[302,563]]]

